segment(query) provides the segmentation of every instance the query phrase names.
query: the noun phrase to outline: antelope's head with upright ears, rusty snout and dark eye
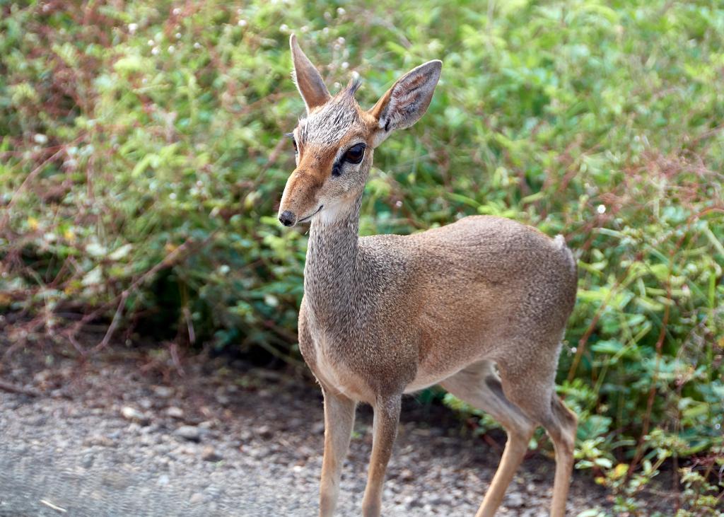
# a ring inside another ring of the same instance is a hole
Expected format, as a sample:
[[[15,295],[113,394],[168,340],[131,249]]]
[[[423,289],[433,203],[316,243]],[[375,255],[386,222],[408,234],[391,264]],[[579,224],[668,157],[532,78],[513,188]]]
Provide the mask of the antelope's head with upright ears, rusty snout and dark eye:
[[[295,35],[290,46],[292,77],[307,113],[291,133],[296,168],[282,195],[279,221],[285,226],[314,218],[334,222],[362,196],[374,148],[427,111],[442,62],[430,61],[411,70],[364,110],[355,100],[358,81],[330,95]]]

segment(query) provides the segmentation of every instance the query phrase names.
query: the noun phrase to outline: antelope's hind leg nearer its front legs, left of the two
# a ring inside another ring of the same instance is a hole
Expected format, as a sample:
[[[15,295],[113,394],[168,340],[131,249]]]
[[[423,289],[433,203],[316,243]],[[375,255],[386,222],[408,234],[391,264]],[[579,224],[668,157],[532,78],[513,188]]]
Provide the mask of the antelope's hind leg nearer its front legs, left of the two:
[[[474,363],[445,379],[441,385],[460,400],[490,413],[508,432],[508,442],[505,443],[500,465],[476,513],[476,517],[492,517],[523,461],[536,425],[505,397],[500,377],[491,361]]]

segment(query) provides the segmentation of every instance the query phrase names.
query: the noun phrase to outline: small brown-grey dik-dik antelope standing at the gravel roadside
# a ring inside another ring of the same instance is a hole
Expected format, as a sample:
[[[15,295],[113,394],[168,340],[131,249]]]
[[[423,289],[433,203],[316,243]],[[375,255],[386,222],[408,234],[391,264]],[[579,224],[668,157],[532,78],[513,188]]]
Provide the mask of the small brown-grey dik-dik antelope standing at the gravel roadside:
[[[359,402],[374,408],[363,516],[379,516],[403,394],[440,384],[505,427],[500,466],[476,514],[493,516],[538,425],[555,446],[552,516],[565,515],[576,416],[555,394],[576,262],[562,237],[473,216],[414,235],[359,237],[374,149],[426,112],[442,62],[411,70],[371,109],[358,83],[330,95],[290,41],[306,104],[292,136],[296,169],[279,207],[285,226],[311,224],[302,355],[324,392],[319,515],[332,516]]]

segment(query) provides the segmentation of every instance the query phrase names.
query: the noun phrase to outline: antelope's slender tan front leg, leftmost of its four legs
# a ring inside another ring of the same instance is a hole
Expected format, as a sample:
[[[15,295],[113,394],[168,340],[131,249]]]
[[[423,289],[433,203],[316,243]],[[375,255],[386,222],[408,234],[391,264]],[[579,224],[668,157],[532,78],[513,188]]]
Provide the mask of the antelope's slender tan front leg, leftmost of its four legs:
[[[319,487],[319,516],[332,517],[340,495],[342,463],[350,447],[357,403],[324,390],[324,460]]]

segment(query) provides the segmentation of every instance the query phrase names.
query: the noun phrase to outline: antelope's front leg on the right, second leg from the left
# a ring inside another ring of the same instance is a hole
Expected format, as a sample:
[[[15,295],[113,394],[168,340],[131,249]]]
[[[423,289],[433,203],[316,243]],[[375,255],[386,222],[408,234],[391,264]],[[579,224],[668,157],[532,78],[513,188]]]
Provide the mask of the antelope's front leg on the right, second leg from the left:
[[[397,437],[400,422],[401,395],[377,398],[374,405],[372,455],[367,473],[367,487],[362,500],[364,517],[379,517],[382,508],[382,484],[387,462],[392,455],[392,445]]]

